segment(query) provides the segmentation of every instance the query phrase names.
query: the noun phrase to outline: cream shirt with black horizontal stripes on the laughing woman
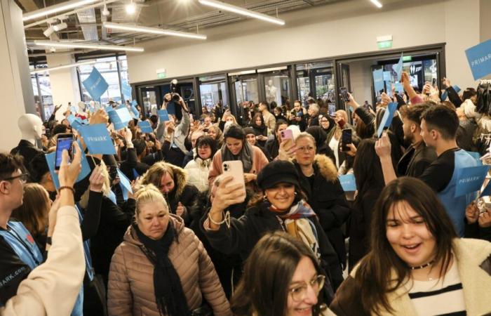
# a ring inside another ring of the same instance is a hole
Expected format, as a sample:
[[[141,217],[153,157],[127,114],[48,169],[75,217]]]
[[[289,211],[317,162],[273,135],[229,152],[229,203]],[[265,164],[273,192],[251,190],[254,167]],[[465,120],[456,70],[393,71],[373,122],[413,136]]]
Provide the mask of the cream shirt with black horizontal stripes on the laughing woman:
[[[417,281],[413,279],[410,285],[412,287],[409,290],[409,297],[417,315],[467,315],[464,291],[462,290],[459,269],[455,261],[445,275],[443,282],[440,282],[440,279],[432,281]]]

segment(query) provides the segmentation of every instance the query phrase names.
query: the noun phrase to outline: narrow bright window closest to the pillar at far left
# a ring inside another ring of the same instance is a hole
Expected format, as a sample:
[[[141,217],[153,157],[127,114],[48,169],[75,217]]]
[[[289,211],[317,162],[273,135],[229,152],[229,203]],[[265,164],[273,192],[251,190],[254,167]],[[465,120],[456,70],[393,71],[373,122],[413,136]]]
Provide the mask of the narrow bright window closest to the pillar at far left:
[[[46,63],[29,66],[29,70],[46,68]],[[32,91],[34,92],[34,107],[41,119],[48,119],[54,110],[53,93],[48,72],[31,74]]]

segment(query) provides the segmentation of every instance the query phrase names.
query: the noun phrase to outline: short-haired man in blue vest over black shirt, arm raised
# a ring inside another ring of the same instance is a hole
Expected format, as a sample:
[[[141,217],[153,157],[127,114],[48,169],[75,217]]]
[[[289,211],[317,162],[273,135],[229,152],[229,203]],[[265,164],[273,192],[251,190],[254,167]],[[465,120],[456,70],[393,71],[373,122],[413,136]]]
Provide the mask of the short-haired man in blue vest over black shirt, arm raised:
[[[465,150],[457,147],[455,135],[459,128],[459,118],[454,110],[446,105],[433,105],[425,110],[421,117],[421,136],[426,146],[432,147],[438,158],[430,164],[418,178],[429,185],[440,198],[457,234],[464,236],[464,218],[466,206],[473,195],[455,197],[457,187],[457,169],[476,166],[476,160]],[[377,140],[375,151],[380,157],[385,183],[396,179],[392,166],[391,143],[384,131]]]

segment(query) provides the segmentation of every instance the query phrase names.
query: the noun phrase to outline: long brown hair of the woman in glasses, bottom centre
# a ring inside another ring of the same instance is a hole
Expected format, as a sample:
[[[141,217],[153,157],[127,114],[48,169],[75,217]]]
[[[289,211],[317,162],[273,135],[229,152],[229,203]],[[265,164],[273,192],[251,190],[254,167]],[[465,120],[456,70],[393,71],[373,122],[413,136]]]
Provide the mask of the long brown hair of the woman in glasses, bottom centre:
[[[284,316],[288,289],[303,257],[323,274],[313,252],[302,241],[285,232],[269,232],[254,246],[244,273],[231,299],[234,315]],[[321,302],[314,306],[319,315]]]

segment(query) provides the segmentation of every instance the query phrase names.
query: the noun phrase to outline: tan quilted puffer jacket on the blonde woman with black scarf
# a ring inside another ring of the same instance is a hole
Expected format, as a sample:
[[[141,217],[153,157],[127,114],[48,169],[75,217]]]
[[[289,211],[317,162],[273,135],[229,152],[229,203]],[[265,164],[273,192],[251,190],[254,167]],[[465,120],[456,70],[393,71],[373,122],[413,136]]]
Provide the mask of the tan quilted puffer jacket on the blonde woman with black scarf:
[[[181,279],[189,308],[199,308],[204,297],[215,316],[231,315],[229,302],[203,244],[192,230],[184,227],[182,218],[169,214],[169,221],[176,230],[177,242],[170,246],[168,256]],[[109,315],[160,315],[155,301],[154,264],[143,247],[130,226],[112,257],[107,289]]]

